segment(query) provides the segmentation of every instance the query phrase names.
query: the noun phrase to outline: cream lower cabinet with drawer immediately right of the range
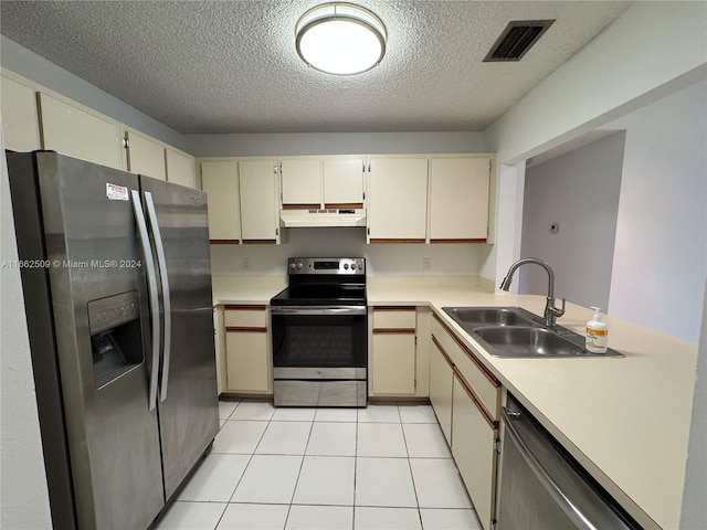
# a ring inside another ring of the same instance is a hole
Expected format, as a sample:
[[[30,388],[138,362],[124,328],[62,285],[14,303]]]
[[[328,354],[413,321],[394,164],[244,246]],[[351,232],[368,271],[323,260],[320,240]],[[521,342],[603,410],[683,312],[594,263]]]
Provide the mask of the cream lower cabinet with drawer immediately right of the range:
[[[416,308],[373,307],[369,394],[415,395]]]

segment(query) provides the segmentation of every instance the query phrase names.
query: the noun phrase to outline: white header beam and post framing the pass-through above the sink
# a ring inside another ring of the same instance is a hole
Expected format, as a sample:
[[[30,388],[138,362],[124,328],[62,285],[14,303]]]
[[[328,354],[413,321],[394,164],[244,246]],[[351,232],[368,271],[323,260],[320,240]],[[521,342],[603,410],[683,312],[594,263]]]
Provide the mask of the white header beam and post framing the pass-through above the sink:
[[[639,1],[484,134],[498,152],[498,244],[482,275],[519,257],[523,172],[515,165],[707,76],[707,3]]]

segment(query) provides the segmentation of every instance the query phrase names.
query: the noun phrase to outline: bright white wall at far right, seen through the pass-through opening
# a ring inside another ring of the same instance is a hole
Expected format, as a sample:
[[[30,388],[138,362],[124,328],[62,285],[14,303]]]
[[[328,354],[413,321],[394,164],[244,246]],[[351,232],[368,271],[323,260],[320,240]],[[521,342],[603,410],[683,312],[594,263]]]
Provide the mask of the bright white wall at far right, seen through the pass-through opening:
[[[707,275],[707,82],[606,127],[626,130],[609,309],[696,342]]]

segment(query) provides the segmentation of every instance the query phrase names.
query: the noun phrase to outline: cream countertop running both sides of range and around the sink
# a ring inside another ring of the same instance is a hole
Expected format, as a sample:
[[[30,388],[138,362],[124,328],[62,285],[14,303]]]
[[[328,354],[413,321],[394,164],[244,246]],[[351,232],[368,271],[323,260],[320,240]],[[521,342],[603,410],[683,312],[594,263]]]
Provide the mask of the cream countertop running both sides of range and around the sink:
[[[229,278],[214,277],[214,304],[267,304],[286,284]],[[442,308],[520,306],[542,315],[545,297],[486,288],[472,277],[369,277],[368,303],[430,306],[639,522],[679,528],[697,346],[603,316],[609,346],[623,359],[496,358]],[[558,324],[583,333],[592,314],[568,303]]]

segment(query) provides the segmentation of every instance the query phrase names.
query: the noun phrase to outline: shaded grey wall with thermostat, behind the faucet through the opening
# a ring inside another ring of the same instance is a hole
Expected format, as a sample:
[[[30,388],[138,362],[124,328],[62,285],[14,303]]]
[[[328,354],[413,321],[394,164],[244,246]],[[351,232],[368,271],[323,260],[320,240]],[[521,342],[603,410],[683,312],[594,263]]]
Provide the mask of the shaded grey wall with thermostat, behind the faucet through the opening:
[[[526,169],[521,256],[548,262],[559,298],[606,312],[624,135],[616,132]],[[550,233],[550,224],[559,232]],[[518,292],[547,294],[547,273],[518,271]]]

